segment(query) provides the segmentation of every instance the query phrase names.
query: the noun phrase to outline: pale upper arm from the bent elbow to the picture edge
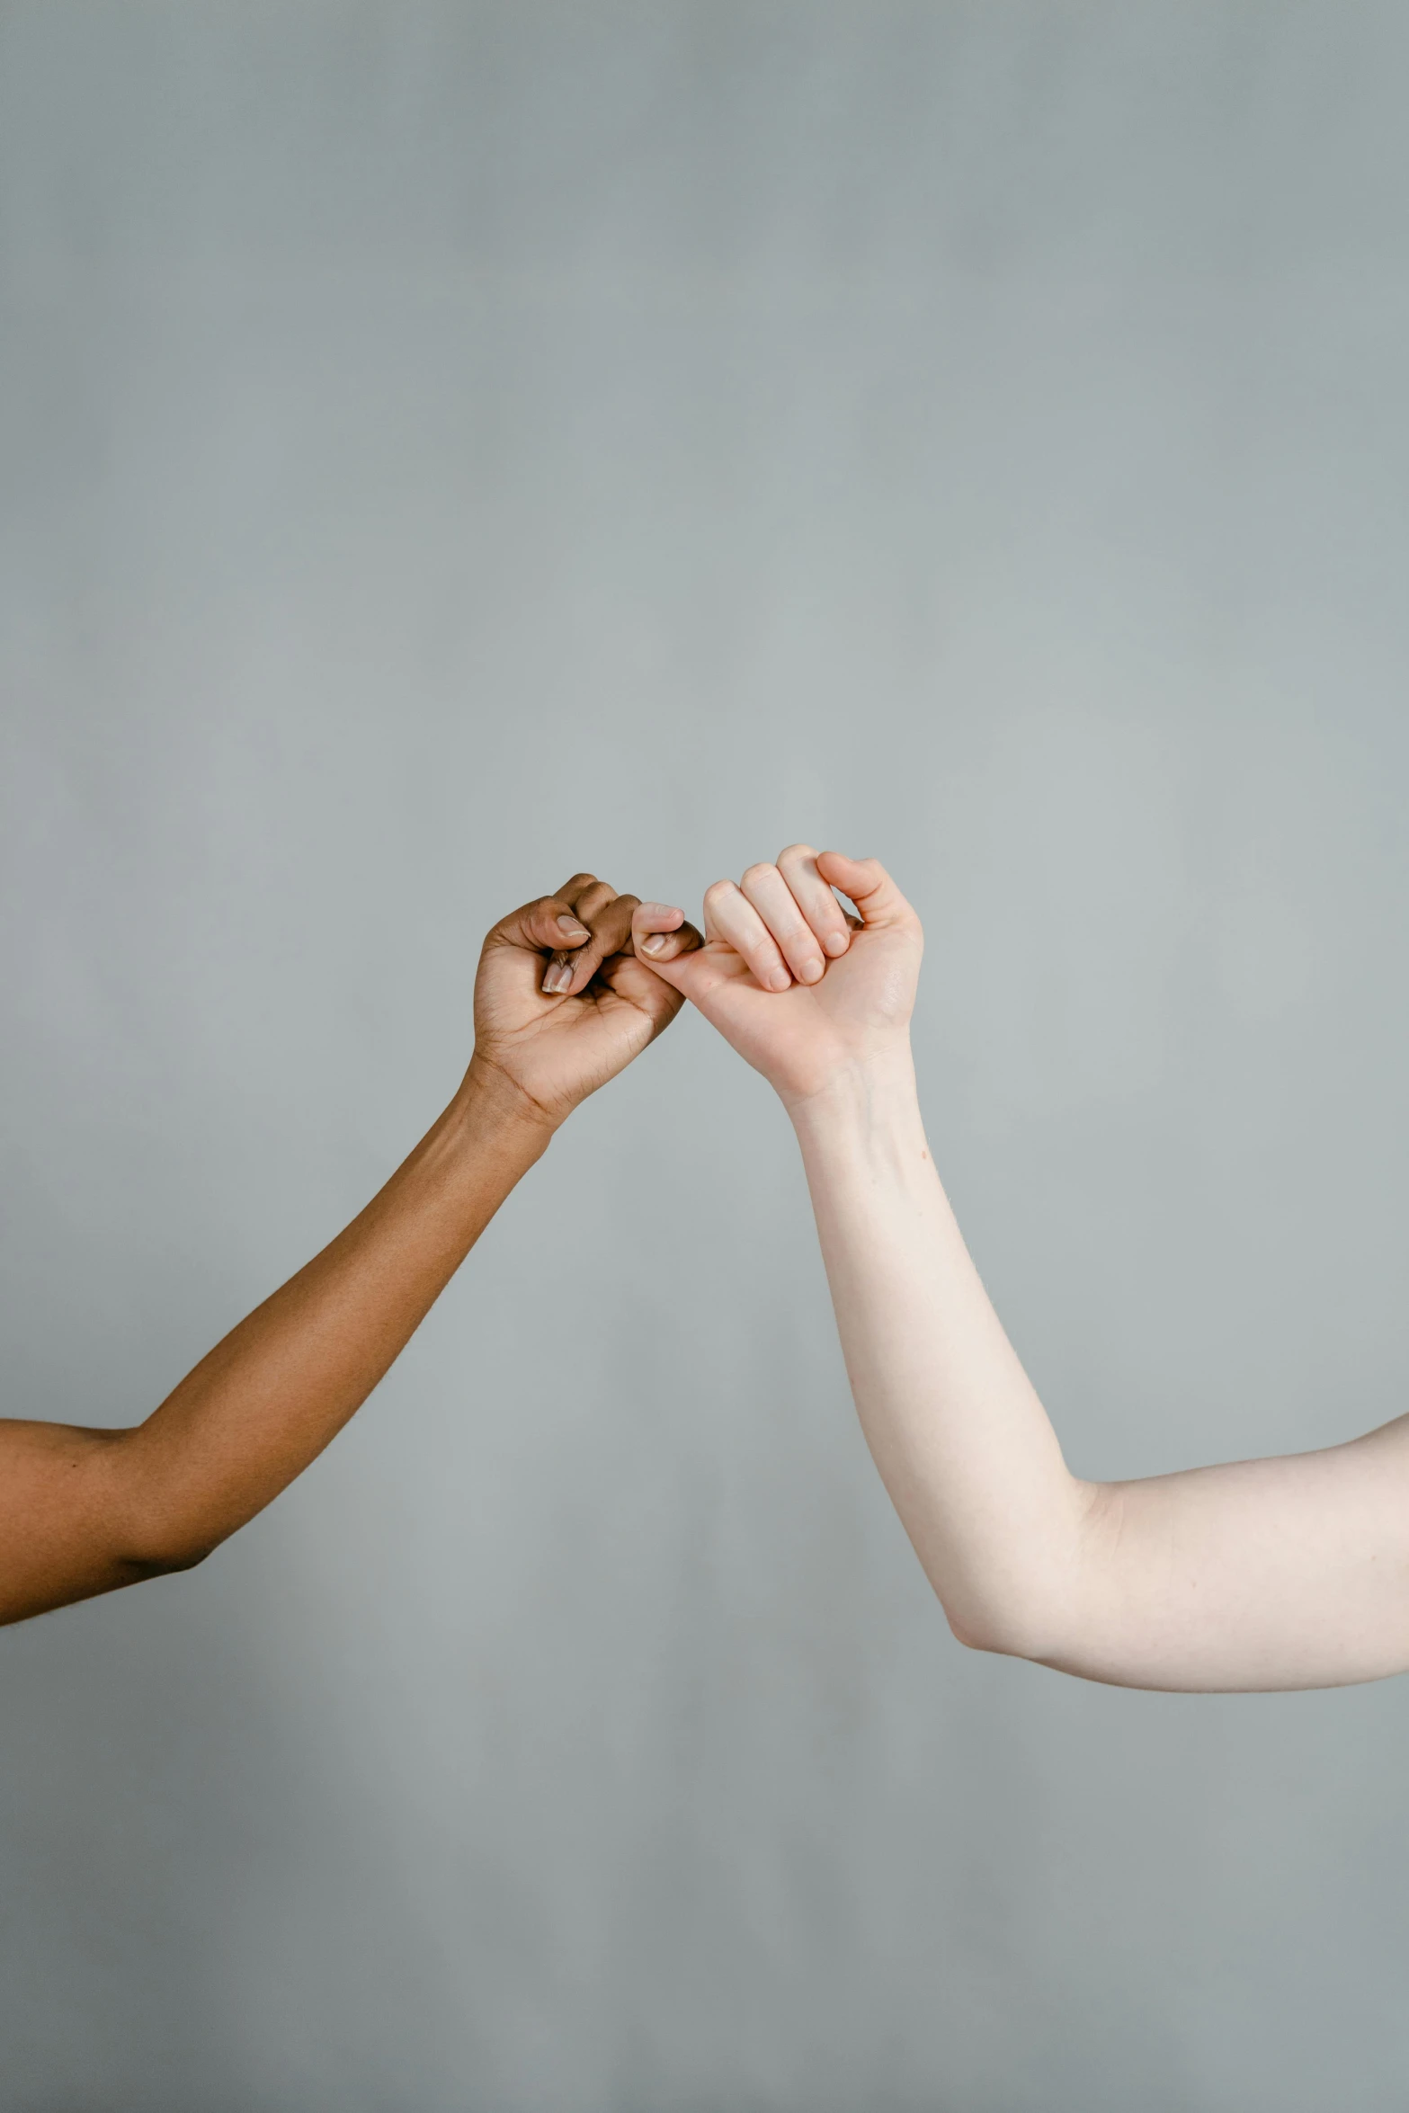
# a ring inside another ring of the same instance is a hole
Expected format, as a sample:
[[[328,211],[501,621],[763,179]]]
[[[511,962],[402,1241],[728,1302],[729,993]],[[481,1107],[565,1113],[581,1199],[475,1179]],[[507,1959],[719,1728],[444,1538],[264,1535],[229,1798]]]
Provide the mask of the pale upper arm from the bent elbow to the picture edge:
[[[1409,1416],[1327,1452],[1107,1483],[1041,1657],[1149,1688],[1409,1671]]]

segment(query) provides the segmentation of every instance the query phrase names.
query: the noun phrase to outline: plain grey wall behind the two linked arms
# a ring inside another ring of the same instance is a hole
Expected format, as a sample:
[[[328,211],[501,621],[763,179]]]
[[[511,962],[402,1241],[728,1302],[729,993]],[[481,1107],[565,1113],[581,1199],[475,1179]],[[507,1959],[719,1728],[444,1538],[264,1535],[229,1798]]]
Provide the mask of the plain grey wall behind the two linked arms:
[[[1401,1411],[1407,63],[0,8],[6,1407],[139,1418],[359,1209],[503,909],[807,835],[925,915],[1075,1466]],[[697,1018],[296,1490],[0,1693],[6,2113],[1405,2105],[1405,1686],[963,1654]]]

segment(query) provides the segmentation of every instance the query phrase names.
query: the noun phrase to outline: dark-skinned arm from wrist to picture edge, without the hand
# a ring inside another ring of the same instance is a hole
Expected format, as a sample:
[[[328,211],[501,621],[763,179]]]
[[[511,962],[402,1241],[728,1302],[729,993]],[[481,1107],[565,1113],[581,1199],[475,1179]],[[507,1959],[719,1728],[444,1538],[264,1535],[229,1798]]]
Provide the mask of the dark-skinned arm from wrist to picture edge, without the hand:
[[[0,1621],[186,1568],[336,1437],[549,1141],[471,1067],[378,1196],[133,1431],[6,1426]]]

